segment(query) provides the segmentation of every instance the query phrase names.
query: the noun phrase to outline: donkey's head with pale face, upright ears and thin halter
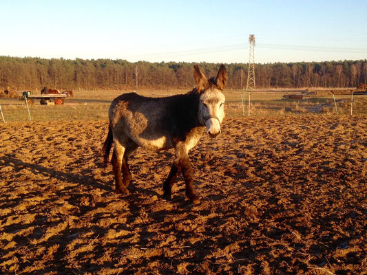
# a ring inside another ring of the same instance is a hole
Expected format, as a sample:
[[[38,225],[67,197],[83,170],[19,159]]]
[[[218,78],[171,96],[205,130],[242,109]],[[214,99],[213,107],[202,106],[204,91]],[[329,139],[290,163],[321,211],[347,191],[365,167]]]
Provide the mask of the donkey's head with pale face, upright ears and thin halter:
[[[226,100],[223,89],[227,81],[227,70],[220,65],[216,78],[207,80],[198,65],[193,66],[196,90],[200,93],[198,119],[200,124],[207,127],[210,137],[220,134],[220,124],[224,118],[224,101]]]

